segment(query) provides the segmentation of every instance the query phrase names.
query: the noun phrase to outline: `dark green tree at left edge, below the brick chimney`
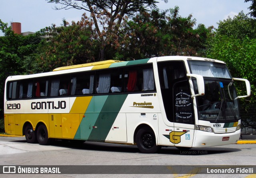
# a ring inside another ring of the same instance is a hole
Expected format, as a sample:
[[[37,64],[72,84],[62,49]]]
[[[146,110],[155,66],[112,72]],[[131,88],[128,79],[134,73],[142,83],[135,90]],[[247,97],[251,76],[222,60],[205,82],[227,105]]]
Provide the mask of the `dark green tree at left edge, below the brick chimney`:
[[[8,23],[0,20],[0,108],[3,108],[4,84],[8,76],[28,74],[26,57],[36,50],[41,38],[38,35],[22,36],[15,34]]]

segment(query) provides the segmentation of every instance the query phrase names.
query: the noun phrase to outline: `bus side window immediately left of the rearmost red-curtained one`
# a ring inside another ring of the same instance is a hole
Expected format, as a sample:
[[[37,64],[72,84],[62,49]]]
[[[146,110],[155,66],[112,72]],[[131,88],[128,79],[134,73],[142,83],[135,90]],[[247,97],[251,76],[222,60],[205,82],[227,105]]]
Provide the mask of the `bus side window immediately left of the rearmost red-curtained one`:
[[[32,98],[33,80],[20,80],[18,88],[18,98]]]

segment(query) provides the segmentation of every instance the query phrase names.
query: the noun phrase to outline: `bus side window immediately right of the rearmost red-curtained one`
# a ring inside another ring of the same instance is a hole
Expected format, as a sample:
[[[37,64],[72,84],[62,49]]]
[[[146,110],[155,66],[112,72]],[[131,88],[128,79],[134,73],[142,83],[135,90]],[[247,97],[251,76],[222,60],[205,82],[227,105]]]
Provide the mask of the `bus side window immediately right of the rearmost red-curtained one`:
[[[51,78],[50,96],[69,95],[70,75],[61,75]]]

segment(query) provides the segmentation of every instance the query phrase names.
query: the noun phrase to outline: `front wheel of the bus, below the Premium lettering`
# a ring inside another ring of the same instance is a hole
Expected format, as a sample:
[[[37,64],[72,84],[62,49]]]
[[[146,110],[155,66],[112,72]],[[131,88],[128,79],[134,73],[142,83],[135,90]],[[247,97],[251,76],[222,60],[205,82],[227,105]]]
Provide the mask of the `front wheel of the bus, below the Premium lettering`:
[[[136,143],[138,149],[142,153],[156,153],[161,146],[156,145],[156,137],[154,132],[147,127],[142,127],[136,135]]]

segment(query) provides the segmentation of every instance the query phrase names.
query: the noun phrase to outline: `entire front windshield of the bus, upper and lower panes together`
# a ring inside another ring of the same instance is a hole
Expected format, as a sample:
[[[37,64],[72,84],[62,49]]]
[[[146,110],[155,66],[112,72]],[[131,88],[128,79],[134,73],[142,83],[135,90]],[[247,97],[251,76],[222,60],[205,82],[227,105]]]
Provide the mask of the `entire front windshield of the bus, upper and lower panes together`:
[[[199,119],[210,122],[235,122],[240,119],[238,98],[225,64],[190,61],[193,74],[204,76],[205,94],[197,97]],[[194,86],[196,80],[193,80]],[[197,90],[197,88],[195,88]]]

